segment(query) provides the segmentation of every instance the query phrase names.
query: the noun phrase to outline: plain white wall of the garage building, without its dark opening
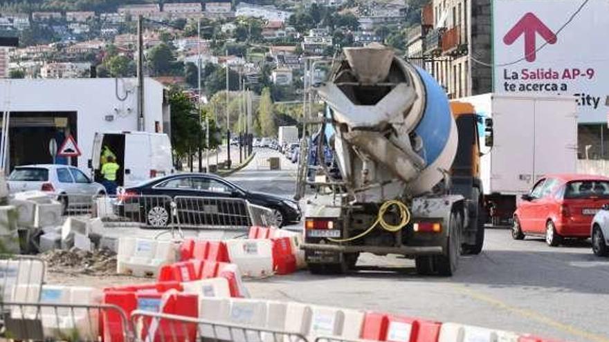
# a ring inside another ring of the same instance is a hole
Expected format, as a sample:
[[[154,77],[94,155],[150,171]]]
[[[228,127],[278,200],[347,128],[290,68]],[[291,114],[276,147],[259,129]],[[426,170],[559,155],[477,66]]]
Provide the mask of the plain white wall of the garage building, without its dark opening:
[[[11,112],[76,112],[78,136],[75,140],[82,152],[78,167],[86,170],[96,132],[137,130],[136,85],[134,78],[0,80],[0,109],[5,110],[3,96],[8,92]],[[155,122],[165,131],[163,125],[169,119],[167,106],[163,105],[163,85],[147,78],[144,86],[145,131],[154,132]],[[164,109],[166,117],[163,117]],[[106,115],[114,115],[114,120],[106,121]]]

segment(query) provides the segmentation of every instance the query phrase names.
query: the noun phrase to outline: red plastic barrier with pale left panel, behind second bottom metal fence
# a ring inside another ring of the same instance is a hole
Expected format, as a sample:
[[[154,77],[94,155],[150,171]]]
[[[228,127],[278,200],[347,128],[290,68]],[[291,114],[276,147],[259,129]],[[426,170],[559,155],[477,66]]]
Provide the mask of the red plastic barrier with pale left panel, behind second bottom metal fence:
[[[199,296],[196,294],[182,294],[175,290],[164,294],[143,293],[138,295],[137,301],[138,310],[192,318],[199,316]],[[197,338],[196,323],[183,323],[167,319],[155,322],[152,319],[145,319],[143,327],[145,328],[138,333],[141,341],[179,342],[196,341]],[[151,339],[150,336],[154,336],[154,339]]]

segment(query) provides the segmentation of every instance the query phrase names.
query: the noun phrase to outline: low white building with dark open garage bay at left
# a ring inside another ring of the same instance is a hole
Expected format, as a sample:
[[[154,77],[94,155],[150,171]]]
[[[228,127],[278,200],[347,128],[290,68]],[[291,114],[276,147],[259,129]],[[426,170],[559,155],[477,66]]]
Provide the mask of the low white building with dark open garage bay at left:
[[[168,133],[170,111],[163,85],[149,78],[144,85],[145,131]],[[52,162],[49,140],[72,134],[82,151],[73,162],[88,171],[96,132],[138,129],[135,78],[0,80],[0,93],[10,94],[8,102],[0,102],[0,110],[11,112],[11,167]],[[10,108],[4,108],[7,103]]]

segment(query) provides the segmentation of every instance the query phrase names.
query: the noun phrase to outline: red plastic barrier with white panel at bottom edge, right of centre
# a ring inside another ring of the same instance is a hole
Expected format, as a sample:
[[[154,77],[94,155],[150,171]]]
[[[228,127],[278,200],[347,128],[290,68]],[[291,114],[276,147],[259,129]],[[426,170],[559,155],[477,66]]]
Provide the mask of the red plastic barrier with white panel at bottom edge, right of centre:
[[[442,323],[367,312],[361,339],[388,342],[437,342]]]

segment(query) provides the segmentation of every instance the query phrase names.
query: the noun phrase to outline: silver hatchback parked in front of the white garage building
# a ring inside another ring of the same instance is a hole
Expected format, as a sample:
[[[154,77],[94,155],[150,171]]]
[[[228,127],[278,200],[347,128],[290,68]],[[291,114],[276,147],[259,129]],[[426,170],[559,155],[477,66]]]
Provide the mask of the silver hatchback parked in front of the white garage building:
[[[39,190],[62,202],[64,211],[91,205],[93,196],[105,195],[102,184],[93,182],[80,169],[62,164],[35,164],[15,167],[8,176],[10,193]]]

